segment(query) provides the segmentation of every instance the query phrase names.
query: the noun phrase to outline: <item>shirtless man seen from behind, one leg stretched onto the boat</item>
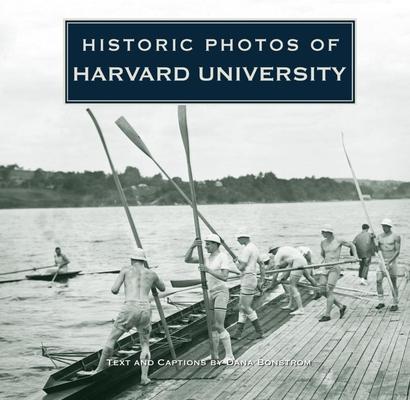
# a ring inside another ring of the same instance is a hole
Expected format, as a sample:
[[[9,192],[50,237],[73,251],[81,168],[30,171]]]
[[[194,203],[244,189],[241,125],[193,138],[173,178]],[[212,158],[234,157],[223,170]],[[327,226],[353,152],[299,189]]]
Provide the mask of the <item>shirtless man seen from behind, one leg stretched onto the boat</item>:
[[[117,340],[131,328],[136,327],[141,345],[141,384],[147,385],[151,382],[148,378],[148,362],[151,359],[149,351],[151,333],[149,292],[152,287],[164,292],[165,285],[154,271],[145,268],[146,261],[144,250],[137,249],[135,255],[131,257],[131,265],[123,267],[118,274],[111,292],[118,294],[122,284],[124,284],[125,303],[108,336],[97,369],[95,371],[81,371],[79,375],[93,375],[102,371],[106,367],[107,360],[114,354]]]

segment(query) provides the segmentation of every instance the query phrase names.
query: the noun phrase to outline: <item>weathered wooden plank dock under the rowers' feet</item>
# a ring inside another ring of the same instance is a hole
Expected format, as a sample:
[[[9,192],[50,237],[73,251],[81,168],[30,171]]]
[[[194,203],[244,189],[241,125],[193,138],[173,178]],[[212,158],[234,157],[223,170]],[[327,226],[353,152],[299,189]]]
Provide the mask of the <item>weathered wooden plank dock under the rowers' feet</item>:
[[[356,273],[347,271],[340,286],[375,292],[375,274],[369,279],[370,286],[360,286]],[[335,307],[332,320],[319,323],[325,299],[310,301],[305,315],[284,320],[261,340],[244,342],[237,360],[252,365],[186,367],[116,399],[408,399],[410,284],[405,278],[399,282],[397,312],[376,310],[377,296],[346,291],[349,296],[338,296],[348,307],[344,318]],[[386,296],[386,306],[390,299]]]

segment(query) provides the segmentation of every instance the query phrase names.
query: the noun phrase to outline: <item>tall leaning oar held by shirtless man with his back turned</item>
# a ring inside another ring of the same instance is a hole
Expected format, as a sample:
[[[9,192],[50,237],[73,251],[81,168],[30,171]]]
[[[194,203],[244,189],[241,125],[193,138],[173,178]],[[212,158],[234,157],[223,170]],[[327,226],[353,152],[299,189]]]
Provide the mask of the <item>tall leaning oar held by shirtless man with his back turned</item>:
[[[136,242],[136,244],[139,248],[142,248],[142,243],[141,243],[141,240],[138,236],[137,228],[135,227],[134,220],[132,219],[132,215],[131,215],[130,209],[128,207],[128,204],[127,204],[127,199],[125,198],[125,194],[124,194],[124,190],[122,189],[121,182],[120,182],[120,180],[118,178],[118,175],[117,175],[117,172],[114,168],[114,164],[111,161],[111,157],[110,157],[110,154],[108,152],[108,147],[105,143],[104,136],[103,136],[103,133],[101,131],[100,125],[98,124],[96,118],[94,117],[94,114],[91,112],[91,110],[89,108],[87,108],[87,112],[90,115],[91,119],[93,120],[94,125],[97,129],[98,135],[100,136],[101,143],[104,147],[105,154],[107,155],[107,159],[108,159],[108,162],[109,162],[110,167],[111,167],[112,175],[114,177],[114,182],[115,182],[115,185],[117,186],[117,190],[118,190],[118,193],[120,195],[121,202],[122,202],[122,205],[123,205],[124,210],[125,210],[125,214],[127,215],[128,222],[129,222],[129,225],[131,227],[132,234],[134,235],[135,242]],[[144,263],[145,263],[145,267],[149,268],[148,262],[145,261]],[[152,291],[152,295],[154,296],[154,300],[155,300],[155,304],[157,306],[158,314],[161,318],[161,323],[162,323],[162,326],[164,328],[165,336],[166,336],[167,341],[168,341],[169,351],[171,353],[171,357],[175,360],[177,358],[177,356],[175,354],[174,344],[172,343],[171,334],[169,333],[167,321],[165,319],[164,310],[162,309],[161,301],[159,300],[159,297],[158,297],[158,291],[157,291],[156,288],[151,288],[151,291]]]

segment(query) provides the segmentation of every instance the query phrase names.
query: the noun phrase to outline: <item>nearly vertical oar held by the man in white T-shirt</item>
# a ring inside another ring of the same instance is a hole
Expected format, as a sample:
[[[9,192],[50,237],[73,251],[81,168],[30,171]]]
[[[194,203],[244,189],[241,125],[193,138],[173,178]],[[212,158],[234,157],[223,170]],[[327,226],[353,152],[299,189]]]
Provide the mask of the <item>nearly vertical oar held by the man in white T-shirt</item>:
[[[188,167],[189,186],[191,189],[192,211],[193,211],[193,216],[194,216],[195,234],[196,234],[196,238],[200,240],[201,239],[201,229],[199,227],[198,208],[196,204],[194,178],[192,176],[191,156],[190,156],[190,151],[189,151],[188,125],[187,125],[187,120],[186,120],[186,107],[185,106],[178,106],[178,122],[179,122],[179,130],[181,132],[182,142],[185,148],[185,156],[186,156],[187,167]],[[199,263],[201,265],[205,265],[204,250],[202,246],[198,246],[198,258],[199,258]],[[204,305],[205,305],[205,310],[206,310],[208,339],[209,339],[209,345],[211,348],[211,357],[212,359],[216,360],[217,354],[216,354],[214,342],[212,340],[212,322],[211,322],[210,312],[209,312],[209,298],[208,298],[208,286],[206,283],[206,275],[205,275],[205,272],[202,270],[200,271],[200,273],[201,273],[201,282],[202,282],[202,293],[204,295]]]

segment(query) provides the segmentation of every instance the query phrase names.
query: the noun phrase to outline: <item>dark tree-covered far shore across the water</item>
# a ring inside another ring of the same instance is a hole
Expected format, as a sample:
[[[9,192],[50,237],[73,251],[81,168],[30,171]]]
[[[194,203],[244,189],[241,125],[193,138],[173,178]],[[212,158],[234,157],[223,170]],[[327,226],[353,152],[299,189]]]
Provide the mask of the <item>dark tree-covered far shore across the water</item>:
[[[119,178],[130,205],[184,203],[172,184],[164,180],[161,174],[144,177],[138,168],[127,167],[124,172],[119,173]],[[187,182],[179,177],[175,177],[174,180],[186,193],[189,193]],[[382,181],[376,182],[377,184],[372,184],[372,181],[366,181],[362,184],[363,193],[371,198],[410,197],[410,183],[408,182],[398,182],[395,186],[391,183],[383,185]],[[39,195],[47,192],[50,199],[55,194],[59,199],[55,200],[57,203],[65,201],[65,204],[61,206],[119,204],[113,177],[103,171],[47,172],[42,169],[24,171],[14,164],[0,166],[0,184],[4,189],[25,189]],[[356,190],[351,181],[315,177],[280,179],[273,172],[240,177],[228,176],[219,180],[196,182],[195,185],[198,201],[202,204],[357,199]],[[30,202],[29,199],[27,201]],[[24,199],[22,202],[24,203]],[[41,199],[39,202],[41,203]],[[52,206],[57,205],[52,204]]]

